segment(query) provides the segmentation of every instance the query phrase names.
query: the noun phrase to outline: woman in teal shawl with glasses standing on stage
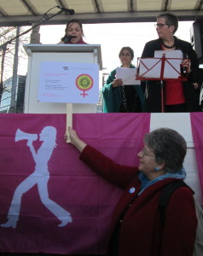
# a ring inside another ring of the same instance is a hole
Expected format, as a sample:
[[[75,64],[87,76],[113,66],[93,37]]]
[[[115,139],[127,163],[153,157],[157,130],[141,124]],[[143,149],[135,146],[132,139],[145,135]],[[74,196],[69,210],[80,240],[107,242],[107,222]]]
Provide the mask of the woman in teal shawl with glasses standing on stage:
[[[135,68],[131,64],[133,58],[134,52],[130,47],[123,47],[120,50],[121,67]],[[103,85],[102,94],[104,113],[143,111],[144,94],[141,85],[125,85],[122,79],[116,78],[116,69],[109,74]]]

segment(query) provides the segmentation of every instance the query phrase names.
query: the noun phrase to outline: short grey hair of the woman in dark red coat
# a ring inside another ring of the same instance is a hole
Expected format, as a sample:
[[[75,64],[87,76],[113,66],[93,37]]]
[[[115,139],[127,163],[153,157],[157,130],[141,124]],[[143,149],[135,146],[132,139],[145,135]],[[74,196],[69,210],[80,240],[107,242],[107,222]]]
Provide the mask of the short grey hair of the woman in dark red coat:
[[[144,143],[154,151],[158,164],[165,163],[165,172],[176,173],[183,168],[187,143],[177,131],[156,129],[145,135]]]

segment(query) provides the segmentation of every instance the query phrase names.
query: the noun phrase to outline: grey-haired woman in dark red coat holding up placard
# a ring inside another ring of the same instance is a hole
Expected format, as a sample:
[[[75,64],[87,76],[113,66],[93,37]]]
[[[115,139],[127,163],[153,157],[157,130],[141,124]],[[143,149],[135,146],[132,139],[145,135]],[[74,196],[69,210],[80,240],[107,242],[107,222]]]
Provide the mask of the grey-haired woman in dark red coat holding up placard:
[[[139,166],[121,166],[84,143],[69,127],[71,143],[92,170],[124,189],[109,232],[109,256],[192,256],[197,218],[193,191],[178,188],[161,224],[158,201],[165,185],[186,177],[187,145],[177,131],[160,128],[144,137]],[[67,139],[67,136],[65,136]]]

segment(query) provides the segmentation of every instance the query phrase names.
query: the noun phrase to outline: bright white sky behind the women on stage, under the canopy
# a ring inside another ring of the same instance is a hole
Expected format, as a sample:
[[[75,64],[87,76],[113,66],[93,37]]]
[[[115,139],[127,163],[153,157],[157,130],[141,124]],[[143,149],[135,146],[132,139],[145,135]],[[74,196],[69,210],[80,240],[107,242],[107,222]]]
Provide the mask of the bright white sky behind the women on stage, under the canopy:
[[[177,38],[190,42],[190,28],[194,21],[180,21],[176,32]],[[42,44],[57,44],[65,33],[65,25],[44,25],[40,27]],[[102,67],[104,72],[111,72],[120,66],[119,50],[130,46],[134,50],[133,64],[141,57],[144,44],[157,38],[154,22],[84,24],[84,41],[88,44],[101,44]]]

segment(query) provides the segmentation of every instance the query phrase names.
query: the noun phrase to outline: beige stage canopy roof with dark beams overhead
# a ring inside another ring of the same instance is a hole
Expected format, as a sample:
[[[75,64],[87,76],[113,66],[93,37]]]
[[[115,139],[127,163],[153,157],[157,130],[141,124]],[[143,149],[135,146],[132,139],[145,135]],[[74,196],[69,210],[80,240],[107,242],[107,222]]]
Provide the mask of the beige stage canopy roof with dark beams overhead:
[[[0,0],[0,26],[31,26],[44,14],[57,14],[56,6],[73,9],[75,14],[55,15],[46,25],[65,24],[69,18],[87,24],[154,22],[156,15],[167,11],[179,20],[195,20],[203,16],[202,4],[202,0]]]

